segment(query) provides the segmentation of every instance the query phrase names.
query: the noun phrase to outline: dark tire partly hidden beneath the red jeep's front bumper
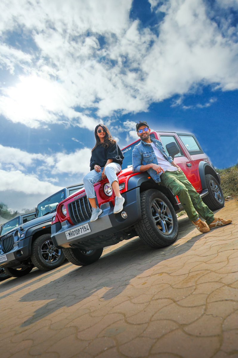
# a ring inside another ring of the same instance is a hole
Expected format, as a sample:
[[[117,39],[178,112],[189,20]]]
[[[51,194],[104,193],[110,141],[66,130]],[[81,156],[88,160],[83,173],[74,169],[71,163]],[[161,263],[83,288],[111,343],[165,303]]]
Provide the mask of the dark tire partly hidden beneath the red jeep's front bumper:
[[[67,247],[63,248],[65,257],[74,265],[86,266],[98,261],[103,253],[103,248],[86,251],[79,248]]]

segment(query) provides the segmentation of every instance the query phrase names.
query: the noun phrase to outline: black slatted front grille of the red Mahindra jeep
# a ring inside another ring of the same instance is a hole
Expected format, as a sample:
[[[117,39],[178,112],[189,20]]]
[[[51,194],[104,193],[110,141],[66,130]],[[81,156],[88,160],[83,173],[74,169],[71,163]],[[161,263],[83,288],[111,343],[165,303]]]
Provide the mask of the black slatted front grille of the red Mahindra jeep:
[[[75,200],[69,204],[68,208],[70,219],[75,224],[79,224],[91,218],[92,210],[87,197]]]

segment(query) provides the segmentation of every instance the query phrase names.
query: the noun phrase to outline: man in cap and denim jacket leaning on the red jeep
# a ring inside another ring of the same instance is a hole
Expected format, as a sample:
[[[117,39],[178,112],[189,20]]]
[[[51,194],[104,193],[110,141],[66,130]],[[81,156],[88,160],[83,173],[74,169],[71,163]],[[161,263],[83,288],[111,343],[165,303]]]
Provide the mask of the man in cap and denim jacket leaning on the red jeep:
[[[158,184],[172,190],[178,195],[189,219],[200,232],[208,232],[215,227],[230,224],[232,220],[215,218],[214,214],[202,201],[193,185],[188,181],[183,171],[174,163],[162,143],[150,137],[150,128],[147,122],[139,121],[136,131],[140,142],[132,152],[132,165],[134,172],[148,171],[151,178]],[[205,219],[202,221],[199,216]]]

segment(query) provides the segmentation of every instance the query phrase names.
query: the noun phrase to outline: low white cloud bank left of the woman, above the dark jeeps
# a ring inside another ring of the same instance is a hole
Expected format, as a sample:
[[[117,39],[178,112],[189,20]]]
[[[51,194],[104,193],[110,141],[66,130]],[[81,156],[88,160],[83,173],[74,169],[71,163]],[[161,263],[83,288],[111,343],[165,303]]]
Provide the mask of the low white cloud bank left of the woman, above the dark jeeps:
[[[48,155],[0,145],[0,202],[18,211],[35,207],[65,185],[81,182],[90,170],[90,155],[88,148]]]

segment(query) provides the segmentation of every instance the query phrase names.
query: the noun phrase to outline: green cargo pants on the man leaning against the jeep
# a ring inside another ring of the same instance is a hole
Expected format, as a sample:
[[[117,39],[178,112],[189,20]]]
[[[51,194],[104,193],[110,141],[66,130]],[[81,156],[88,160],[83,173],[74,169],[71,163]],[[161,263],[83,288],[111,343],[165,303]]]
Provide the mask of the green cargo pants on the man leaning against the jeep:
[[[213,222],[213,212],[203,203],[202,198],[188,181],[183,171],[165,171],[160,175],[160,180],[164,187],[172,190],[174,195],[178,195],[180,203],[191,221],[197,220],[199,214],[208,225]]]

